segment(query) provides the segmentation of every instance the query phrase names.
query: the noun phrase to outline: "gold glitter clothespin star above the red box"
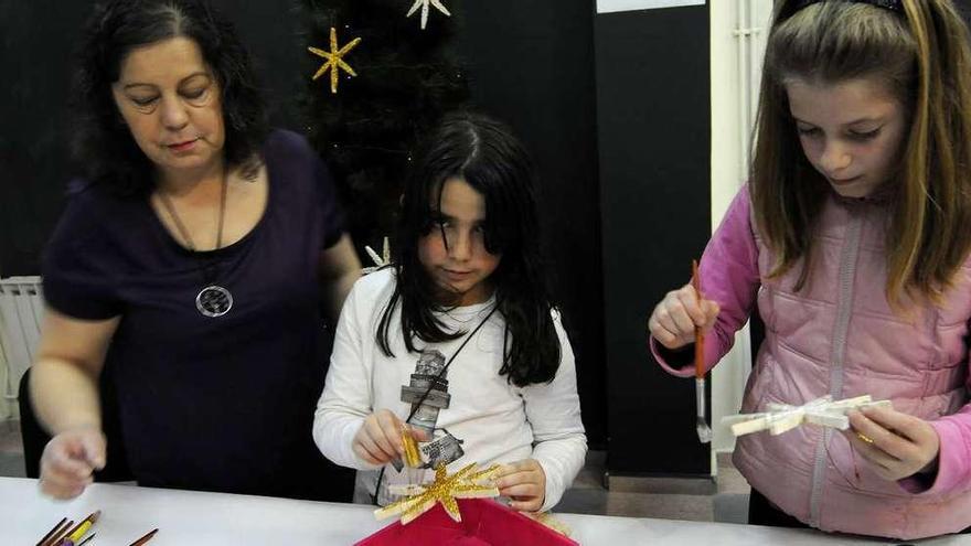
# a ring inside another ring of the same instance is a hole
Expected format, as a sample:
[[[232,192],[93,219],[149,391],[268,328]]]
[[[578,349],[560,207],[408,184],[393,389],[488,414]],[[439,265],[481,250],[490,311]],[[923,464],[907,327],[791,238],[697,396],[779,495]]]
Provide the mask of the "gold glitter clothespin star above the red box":
[[[462,521],[456,499],[488,499],[499,496],[499,489],[492,483],[499,472],[499,464],[478,470],[474,462],[448,475],[445,464],[435,468],[435,481],[424,485],[392,485],[393,494],[408,495],[408,499],[388,504],[374,511],[374,517],[384,520],[401,514],[402,525],[431,510],[435,503],[441,506],[456,522]],[[488,485],[486,484],[488,483]]]

